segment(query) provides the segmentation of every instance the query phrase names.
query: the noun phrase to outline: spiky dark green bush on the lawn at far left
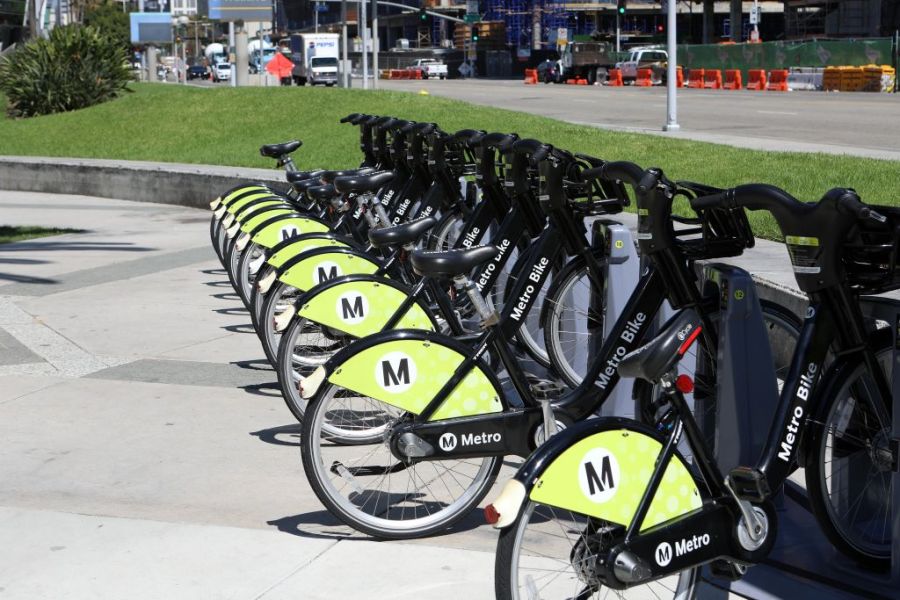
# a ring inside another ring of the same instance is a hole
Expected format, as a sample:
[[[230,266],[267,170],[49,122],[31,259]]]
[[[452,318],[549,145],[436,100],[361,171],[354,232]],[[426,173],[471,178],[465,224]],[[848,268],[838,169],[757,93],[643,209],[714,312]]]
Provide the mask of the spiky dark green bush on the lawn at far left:
[[[93,106],[118,96],[130,79],[118,40],[81,25],[56,27],[0,61],[0,90],[14,117]]]

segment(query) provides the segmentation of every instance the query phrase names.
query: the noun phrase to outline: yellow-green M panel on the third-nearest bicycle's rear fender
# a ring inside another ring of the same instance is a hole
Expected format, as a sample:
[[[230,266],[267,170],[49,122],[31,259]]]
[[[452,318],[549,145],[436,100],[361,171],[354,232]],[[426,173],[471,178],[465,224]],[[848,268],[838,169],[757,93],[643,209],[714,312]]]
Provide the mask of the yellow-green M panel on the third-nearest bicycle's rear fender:
[[[407,297],[402,290],[377,281],[348,281],[316,293],[298,314],[360,338],[384,329]],[[406,311],[395,328],[434,331],[431,319],[418,303]]]

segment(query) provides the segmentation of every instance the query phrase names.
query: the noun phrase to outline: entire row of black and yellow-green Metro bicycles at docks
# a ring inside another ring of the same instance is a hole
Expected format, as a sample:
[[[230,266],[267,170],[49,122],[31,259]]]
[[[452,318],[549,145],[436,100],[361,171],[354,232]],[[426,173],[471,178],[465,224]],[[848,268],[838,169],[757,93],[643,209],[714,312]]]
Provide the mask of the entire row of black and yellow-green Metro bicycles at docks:
[[[300,171],[299,141],[263,146],[286,183],[228,190],[210,223],[335,517],[446,532],[519,457],[484,511],[498,598],[684,599],[768,555],[790,479],[848,560],[886,568],[894,325],[865,307],[900,288],[900,210],[515,134],[342,123],[359,168]],[[636,233],[615,218],[629,206]],[[737,360],[723,307],[758,301],[699,267],[753,246],[745,210],[777,221],[809,308],[755,304],[742,326],[764,343]],[[762,403],[722,395],[735,373],[771,382],[776,407],[740,464],[719,424]]]

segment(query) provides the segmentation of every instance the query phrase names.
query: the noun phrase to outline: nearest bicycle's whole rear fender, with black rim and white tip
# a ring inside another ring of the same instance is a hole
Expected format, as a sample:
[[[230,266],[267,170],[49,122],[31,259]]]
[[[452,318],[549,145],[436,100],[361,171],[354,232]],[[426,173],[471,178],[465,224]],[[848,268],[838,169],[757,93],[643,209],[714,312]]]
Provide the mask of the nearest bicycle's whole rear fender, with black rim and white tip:
[[[511,524],[526,498],[628,526],[664,443],[655,431],[628,419],[606,417],[578,423],[539,447],[520,467],[513,479],[517,483],[508,483],[498,497],[501,505],[493,505],[500,514],[495,527]],[[676,452],[641,531],[702,505],[697,483]]]

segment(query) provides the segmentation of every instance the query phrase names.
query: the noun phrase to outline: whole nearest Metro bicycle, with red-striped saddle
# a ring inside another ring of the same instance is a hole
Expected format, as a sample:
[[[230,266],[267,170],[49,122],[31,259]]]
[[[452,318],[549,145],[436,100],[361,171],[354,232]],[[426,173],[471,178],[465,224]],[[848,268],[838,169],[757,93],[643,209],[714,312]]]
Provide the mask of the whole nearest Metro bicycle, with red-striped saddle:
[[[641,179],[648,187],[660,184],[670,185],[658,170]],[[681,310],[618,365],[621,376],[663,390],[673,411],[668,428],[613,418],[580,423],[529,457],[486,510],[502,529],[495,569],[500,599],[534,597],[540,588],[548,599],[606,591],[687,600],[704,565],[740,578],[770,551],[777,533],[772,499],[798,465],[806,466],[810,503],[832,543],[870,567],[886,565],[889,525],[870,526],[891,510],[890,494],[881,493],[896,460],[887,434],[891,336],[867,328],[860,296],[900,288],[900,210],[867,206],[847,189],[807,204],[760,184],[691,204],[704,213],[773,214],[797,283],[810,298],[759,460],[727,477],[719,469],[685,401],[693,382],[676,370],[709,325],[694,308]],[[825,366],[830,351],[835,360]],[[679,442],[692,452],[692,464]],[[850,461],[867,468],[857,478],[836,480]],[[854,489],[862,479],[865,485]],[[847,504],[856,514],[837,518],[835,509]],[[857,511],[869,519],[859,523]]]

